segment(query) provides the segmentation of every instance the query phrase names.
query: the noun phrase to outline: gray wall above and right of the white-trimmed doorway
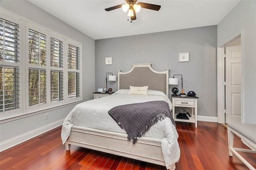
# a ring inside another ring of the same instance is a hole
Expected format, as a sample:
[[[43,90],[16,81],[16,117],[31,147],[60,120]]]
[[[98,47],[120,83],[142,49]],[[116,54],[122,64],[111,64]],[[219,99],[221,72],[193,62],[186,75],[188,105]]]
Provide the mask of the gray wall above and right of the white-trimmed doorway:
[[[219,24],[218,46],[244,32],[244,123],[256,124],[256,1],[242,0]]]

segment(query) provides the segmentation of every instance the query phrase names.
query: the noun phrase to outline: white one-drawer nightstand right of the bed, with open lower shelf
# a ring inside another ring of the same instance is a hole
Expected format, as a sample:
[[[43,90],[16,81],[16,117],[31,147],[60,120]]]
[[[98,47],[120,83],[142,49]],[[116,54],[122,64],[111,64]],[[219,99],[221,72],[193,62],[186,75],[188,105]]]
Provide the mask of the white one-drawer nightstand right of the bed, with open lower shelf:
[[[196,96],[172,96],[172,116],[175,121],[182,121],[182,122],[190,122],[195,123],[197,127],[197,99]],[[177,119],[175,113],[175,107],[191,107],[191,117],[188,117],[189,120],[186,119]]]

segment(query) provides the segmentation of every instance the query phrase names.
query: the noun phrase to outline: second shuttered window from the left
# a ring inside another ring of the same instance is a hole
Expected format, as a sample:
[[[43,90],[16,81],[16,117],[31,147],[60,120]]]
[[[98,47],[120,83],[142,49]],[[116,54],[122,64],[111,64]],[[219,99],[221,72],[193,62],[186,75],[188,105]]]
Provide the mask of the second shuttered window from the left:
[[[46,35],[28,29],[28,106],[46,104]]]

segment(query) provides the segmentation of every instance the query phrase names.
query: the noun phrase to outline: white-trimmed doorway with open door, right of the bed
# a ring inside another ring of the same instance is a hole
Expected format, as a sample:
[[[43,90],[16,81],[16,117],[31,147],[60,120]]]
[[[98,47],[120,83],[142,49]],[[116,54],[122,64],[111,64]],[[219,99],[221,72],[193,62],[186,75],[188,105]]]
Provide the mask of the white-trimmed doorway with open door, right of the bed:
[[[218,47],[218,123],[243,122],[242,34]]]

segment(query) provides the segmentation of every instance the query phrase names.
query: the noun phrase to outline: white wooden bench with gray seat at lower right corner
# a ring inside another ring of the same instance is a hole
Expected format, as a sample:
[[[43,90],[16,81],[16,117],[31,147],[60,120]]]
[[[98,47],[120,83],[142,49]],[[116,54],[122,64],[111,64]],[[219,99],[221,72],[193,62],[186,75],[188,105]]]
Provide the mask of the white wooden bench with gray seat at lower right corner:
[[[241,138],[250,149],[234,148],[234,134]],[[256,125],[245,123],[229,123],[228,124],[228,150],[229,156],[234,153],[248,168],[255,168],[247,162],[237,151],[256,153]]]

